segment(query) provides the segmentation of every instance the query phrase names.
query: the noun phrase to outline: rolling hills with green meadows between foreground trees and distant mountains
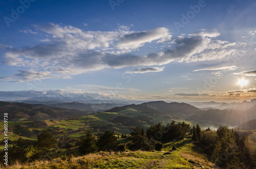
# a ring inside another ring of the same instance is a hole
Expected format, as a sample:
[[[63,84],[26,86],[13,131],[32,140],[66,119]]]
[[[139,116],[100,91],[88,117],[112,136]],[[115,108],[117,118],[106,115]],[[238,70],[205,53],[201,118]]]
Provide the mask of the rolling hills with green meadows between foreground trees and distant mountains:
[[[83,104],[71,103],[75,108]],[[93,105],[90,105],[93,106]],[[19,136],[36,138],[40,131],[48,129],[55,137],[66,135],[80,137],[87,128],[96,134],[107,129],[119,134],[129,134],[134,126],[148,128],[150,125],[172,123],[173,120],[202,128],[218,128],[220,125],[236,127],[256,118],[256,106],[249,110],[201,110],[186,103],[147,102],[114,107],[104,112],[80,111],[75,109],[31,105],[25,103],[0,102],[0,113],[8,112],[12,138]],[[12,121],[12,122],[11,122]],[[1,122],[3,123],[3,122]],[[3,125],[2,125],[3,126]]]

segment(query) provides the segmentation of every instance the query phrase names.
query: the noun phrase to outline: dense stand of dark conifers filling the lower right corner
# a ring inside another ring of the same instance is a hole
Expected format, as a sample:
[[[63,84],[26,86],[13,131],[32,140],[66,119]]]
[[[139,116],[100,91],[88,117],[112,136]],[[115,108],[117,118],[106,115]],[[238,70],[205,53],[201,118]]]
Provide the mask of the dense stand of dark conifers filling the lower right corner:
[[[220,126],[217,131],[210,128],[200,132],[193,127],[193,140],[208,155],[209,161],[223,168],[255,168],[256,142],[248,135],[240,136],[228,126]]]

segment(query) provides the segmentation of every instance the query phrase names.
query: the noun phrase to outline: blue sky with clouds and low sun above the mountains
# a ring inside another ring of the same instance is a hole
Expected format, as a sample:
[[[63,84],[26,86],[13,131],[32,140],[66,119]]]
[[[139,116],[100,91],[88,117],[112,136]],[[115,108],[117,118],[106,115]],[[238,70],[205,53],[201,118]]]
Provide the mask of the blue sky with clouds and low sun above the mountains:
[[[0,100],[256,98],[255,1],[1,1]],[[8,93],[8,94],[7,94]]]

